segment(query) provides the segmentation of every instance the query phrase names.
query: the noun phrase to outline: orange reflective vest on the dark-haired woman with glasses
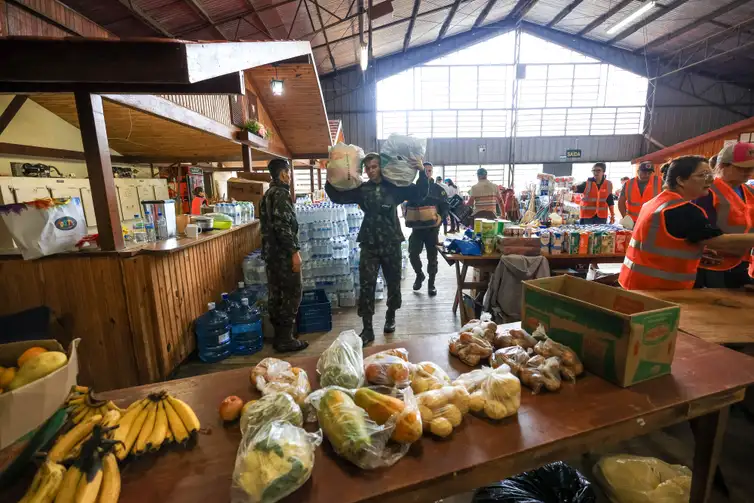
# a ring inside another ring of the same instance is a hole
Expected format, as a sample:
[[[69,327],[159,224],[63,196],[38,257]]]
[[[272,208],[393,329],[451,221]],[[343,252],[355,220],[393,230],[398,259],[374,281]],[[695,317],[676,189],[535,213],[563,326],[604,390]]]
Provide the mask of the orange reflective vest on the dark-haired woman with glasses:
[[[665,190],[642,206],[618,277],[623,288],[688,290],[694,287],[704,245],[673,237],[665,227],[665,212],[684,204],[694,203]]]

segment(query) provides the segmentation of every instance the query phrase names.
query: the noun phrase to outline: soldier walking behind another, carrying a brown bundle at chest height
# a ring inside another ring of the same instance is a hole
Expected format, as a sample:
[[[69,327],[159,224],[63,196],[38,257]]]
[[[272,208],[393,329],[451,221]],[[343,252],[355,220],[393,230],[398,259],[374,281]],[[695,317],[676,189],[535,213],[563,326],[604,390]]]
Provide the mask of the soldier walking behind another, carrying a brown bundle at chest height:
[[[437,295],[435,288],[435,275],[437,275],[437,239],[440,225],[448,216],[448,193],[439,183],[432,179],[432,163],[424,163],[424,173],[429,180],[429,191],[426,197],[412,199],[407,204],[406,226],[411,228],[411,236],[408,238],[408,255],[411,267],[416,273],[414,290],[419,290],[424,282],[422,272],[421,255],[422,249],[427,250],[427,293],[430,297]],[[438,177],[439,178],[439,177]],[[421,213],[419,208],[422,208]],[[413,211],[412,211],[413,209]],[[431,219],[430,219],[430,214]]]

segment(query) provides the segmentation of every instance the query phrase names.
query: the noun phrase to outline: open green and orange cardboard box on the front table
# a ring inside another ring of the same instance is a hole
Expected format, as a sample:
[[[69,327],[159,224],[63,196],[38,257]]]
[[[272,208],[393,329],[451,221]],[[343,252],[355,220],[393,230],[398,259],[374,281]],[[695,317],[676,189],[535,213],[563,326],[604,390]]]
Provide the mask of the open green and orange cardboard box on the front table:
[[[573,276],[523,285],[523,328],[531,332],[541,323],[589,372],[623,387],[670,373],[677,304]]]

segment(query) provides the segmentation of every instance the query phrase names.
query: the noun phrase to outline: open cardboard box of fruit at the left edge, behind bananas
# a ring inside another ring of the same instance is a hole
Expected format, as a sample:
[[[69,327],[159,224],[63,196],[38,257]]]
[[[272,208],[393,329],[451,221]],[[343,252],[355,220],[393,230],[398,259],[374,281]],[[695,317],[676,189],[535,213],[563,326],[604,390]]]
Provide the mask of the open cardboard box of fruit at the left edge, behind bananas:
[[[68,348],[68,362],[42,379],[0,395],[0,449],[35,430],[65,402],[79,374],[75,339]],[[40,346],[50,351],[65,351],[56,340],[11,342],[0,345],[0,365],[16,366],[16,360],[28,348]]]

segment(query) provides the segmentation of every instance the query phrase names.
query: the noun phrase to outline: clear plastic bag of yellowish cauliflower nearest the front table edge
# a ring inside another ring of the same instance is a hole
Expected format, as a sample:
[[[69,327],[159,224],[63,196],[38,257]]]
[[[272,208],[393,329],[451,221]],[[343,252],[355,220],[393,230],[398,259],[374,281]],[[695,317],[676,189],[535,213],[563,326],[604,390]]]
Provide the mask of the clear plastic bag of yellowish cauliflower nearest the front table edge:
[[[322,433],[287,421],[266,423],[241,439],[231,483],[231,503],[274,503],[309,480]]]

